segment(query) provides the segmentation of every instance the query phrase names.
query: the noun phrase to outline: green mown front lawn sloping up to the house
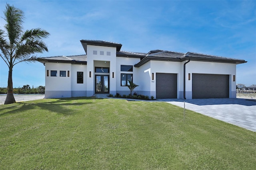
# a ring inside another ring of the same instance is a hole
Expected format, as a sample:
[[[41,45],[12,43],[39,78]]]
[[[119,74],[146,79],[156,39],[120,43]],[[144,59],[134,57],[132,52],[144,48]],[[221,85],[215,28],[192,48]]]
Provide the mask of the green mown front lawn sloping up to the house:
[[[0,169],[256,169],[256,133],[168,103],[0,106]]]

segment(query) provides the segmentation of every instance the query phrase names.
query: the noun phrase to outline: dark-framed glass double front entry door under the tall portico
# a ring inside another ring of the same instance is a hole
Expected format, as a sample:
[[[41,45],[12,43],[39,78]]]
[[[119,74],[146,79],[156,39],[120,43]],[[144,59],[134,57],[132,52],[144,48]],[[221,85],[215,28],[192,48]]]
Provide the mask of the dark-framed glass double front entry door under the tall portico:
[[[95,93],[109,93],[109,75],[95,75]]]

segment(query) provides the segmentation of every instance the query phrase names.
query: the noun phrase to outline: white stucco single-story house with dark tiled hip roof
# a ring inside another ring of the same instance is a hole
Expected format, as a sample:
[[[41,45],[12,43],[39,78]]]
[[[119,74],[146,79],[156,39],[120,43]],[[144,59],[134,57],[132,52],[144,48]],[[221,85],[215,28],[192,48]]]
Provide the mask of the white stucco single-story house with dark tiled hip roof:
[[[40,58],[45,65],[45,98],[128,95],[135,92],[156,99],[236,98],[233,59],[200,53],[152,50],[120,51],[122,44],[81,40],[85,55]]]

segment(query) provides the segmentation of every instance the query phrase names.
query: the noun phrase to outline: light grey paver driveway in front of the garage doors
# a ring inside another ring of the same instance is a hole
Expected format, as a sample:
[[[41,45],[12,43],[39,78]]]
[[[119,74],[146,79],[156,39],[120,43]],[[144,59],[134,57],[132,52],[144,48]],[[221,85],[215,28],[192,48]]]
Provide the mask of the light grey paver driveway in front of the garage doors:
[[[207,115],[256,132],[256,100],[250,99],[161,99],[173,105]]]

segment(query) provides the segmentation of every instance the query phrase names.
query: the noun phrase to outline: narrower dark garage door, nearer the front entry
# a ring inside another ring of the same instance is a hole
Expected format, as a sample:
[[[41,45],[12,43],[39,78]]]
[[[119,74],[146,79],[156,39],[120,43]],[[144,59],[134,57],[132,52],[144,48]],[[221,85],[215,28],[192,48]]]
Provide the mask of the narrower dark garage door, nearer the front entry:
[[[177,74],[156,73],[156,98],[177,99]]]

